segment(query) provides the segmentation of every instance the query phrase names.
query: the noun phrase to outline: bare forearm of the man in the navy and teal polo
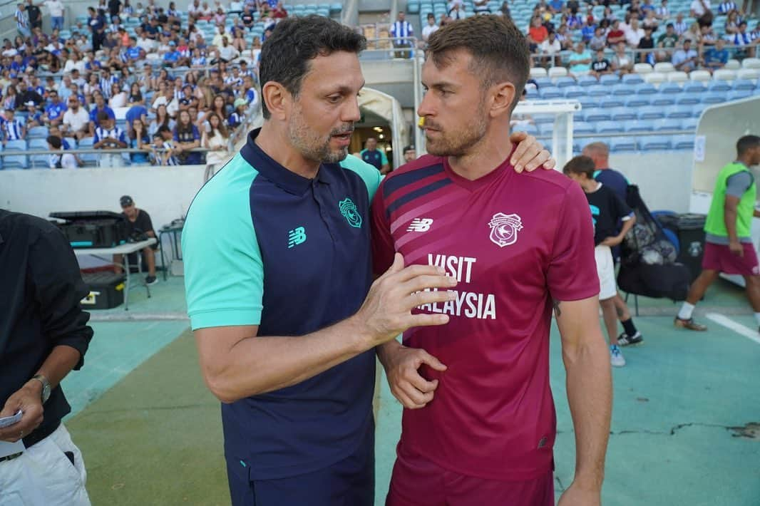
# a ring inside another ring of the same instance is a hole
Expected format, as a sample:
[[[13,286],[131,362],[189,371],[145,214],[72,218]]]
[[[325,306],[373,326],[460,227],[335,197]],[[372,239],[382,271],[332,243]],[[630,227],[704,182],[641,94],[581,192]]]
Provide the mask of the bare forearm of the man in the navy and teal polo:
[[[211,391],[231,403],[299,384],[372,347],[348,318],[302,337],[246,337],[227,353],[220,371],[204,372]]]

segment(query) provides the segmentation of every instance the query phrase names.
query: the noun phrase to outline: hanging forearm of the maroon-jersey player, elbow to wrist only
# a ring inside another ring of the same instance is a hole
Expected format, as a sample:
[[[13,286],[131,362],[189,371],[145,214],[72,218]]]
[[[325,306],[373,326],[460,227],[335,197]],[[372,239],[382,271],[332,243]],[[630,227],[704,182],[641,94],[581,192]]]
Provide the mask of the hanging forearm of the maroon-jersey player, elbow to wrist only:
[[[575,427],[575,483],[583,489],[599,490],[612,411],[610,354],[600,337],[594,343],[564,346],[562,358]]]

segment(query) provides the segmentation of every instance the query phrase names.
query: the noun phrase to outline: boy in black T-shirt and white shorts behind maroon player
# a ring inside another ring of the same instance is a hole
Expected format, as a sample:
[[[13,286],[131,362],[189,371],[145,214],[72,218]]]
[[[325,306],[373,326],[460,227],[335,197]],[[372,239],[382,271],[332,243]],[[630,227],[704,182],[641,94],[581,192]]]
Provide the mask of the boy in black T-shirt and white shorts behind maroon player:
[[[610,362],[615,367],[625,365],[618,345],[617,313],[615,297],[617,283],[615,282],[615,261],[613,251],[622,242],[625,234],[636,222],[633,211],[621,201],[612,188],[594,179],[594,160],[589,157],[575,157],[565,164],[562,172],[581,185],[591,217],[594,220],[594,257],[597,260],[597,276],[599,276],[599,305],[602,307],[604,326],[610,337]],[[622,221],[622,228],[617,232],[617,223]]]

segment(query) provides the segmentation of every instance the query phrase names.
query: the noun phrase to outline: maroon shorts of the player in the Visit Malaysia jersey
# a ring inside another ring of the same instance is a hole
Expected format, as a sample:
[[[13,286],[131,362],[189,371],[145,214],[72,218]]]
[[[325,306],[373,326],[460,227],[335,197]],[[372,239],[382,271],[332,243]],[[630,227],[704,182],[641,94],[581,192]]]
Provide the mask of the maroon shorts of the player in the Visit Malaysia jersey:
[[[554,476],[506,482],[464,476],[398,452],[385,506],[554,506]]]

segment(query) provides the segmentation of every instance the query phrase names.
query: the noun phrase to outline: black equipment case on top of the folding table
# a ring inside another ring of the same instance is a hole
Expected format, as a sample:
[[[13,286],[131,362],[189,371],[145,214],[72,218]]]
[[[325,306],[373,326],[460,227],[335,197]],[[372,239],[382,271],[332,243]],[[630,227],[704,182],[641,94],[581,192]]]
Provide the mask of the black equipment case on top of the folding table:
[[[127,241],[124,215],[111,211],[50,213],[72,248],[112,248]]]

